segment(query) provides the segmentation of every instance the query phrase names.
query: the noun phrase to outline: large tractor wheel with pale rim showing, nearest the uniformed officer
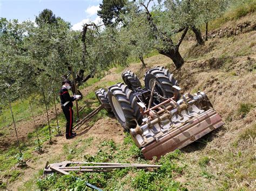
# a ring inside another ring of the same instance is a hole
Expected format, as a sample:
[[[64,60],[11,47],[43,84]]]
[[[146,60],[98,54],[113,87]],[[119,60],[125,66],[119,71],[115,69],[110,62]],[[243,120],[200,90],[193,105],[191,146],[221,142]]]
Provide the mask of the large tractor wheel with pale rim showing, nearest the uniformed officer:
[[[114,116],[126,131],[136,128],[137,123],[142,122],[142,114],[137,104],[137,98],[132,94],[132,90],[124,83],[117,83],[107,90],[109,103]],[[135,121],[136,120],[136,121]]]

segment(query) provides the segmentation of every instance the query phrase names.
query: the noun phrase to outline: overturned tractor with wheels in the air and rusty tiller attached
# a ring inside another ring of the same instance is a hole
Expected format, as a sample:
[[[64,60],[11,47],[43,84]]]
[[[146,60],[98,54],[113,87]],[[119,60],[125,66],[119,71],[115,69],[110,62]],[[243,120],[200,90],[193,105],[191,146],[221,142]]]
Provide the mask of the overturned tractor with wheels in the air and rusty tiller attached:
[[[122,78],[124,83],[101,88],[96,96],[146,159],[183,148],[224,124],[205,93],[180,95],[177,81],[164,67],[147,70],[145,88],[130,70]]]

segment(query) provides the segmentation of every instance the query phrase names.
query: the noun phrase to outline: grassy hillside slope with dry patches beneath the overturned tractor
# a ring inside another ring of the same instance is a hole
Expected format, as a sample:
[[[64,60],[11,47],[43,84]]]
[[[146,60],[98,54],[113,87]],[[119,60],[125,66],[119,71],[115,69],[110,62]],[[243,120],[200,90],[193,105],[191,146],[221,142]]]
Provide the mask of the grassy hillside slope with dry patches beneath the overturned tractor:
[[[248,15],[240,21],[231,20],[225,26],[236,27],[239,22],[252,21],[254,18],[254,15]],[[51,145],[47,137],[48,126],[44,124],[39,128],[43,153],[36,152],[36,146],[31,146],[36,145],[33,129],[22,142],[28,167],[15,166],[18,162],[15,146],[1,150],[0,162],[3,165],[0,168],[0,188],[82,189],[83,181],[88,181],[105,189],[255,190],[255,42],[255,30],[228,38],[209,39],[203,46],[196,46],[194,41],[184,41],[180,50],[186,62],[179,70],[174,69],[169,58],[154,55],[145,59],[146,68],[141,63],[131,63],[127,68],[112,68],[102,79],[91,79],[82,90],[85,98],[79,104],[88,105],[82,112],[82,116],[85,116],[99,105],[94,91],[122,81],[120,74],[124,70],[133,70],[143,82],[147,69],[165,66],[174,74],[184,93],[201,90],[207,94],[225,122],[218,130],[180,151],[167,154],[159,161],[146,161],[113,115],[104,110],[77,130],[77,138],[66,140],[64,137],[53,137]],[[65,119],[61,111],[59,119],[64,132]],[[56,127],[54,119],[51,125]],[[53,135],[56,135],[56,128],[53,130]],[[65,176],[53,174],[42,178],[46,161],[53,163],[63,160],[150,163],[162,164],[163,167]],[[75,180],[75,176],[79,176],[80,180]]]

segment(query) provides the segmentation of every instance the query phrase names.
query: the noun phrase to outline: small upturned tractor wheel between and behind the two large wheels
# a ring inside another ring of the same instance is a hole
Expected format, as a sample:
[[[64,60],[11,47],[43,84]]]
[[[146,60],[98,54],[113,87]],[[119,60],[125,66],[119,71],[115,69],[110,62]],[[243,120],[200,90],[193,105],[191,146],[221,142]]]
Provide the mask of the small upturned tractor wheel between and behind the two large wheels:
[[[123,78],[124,83],[131,90],[142,87],[142,84],[140,83],[139,78],[131,70],[126,70],[122,74],[122,78]]]

